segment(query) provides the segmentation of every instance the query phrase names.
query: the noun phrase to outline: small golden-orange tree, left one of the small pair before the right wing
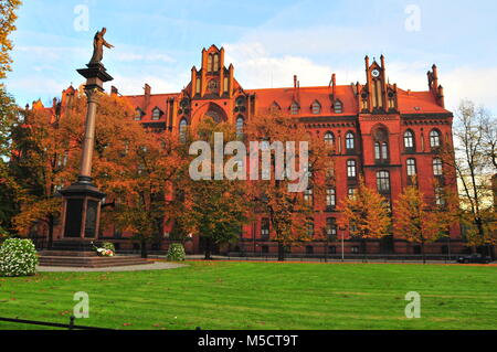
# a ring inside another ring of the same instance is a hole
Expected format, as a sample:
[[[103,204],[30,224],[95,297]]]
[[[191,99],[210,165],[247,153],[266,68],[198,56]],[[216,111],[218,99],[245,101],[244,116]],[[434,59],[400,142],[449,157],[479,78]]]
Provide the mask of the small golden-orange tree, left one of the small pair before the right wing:
[[[389,235],[391,226],[388,201],[359,179],[359,186],[353,195],[343,199],[337,210],[342,213],[338,223],[349,226],[352,237],[360,239],[362,254],[367,258],[367,241]]]

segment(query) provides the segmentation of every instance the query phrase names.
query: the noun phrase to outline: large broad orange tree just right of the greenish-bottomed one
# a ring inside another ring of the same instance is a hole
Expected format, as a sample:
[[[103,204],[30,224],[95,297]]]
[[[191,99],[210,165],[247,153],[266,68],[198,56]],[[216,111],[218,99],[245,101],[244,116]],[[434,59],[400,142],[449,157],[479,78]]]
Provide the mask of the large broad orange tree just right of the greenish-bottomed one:
[[[284,260],[286,248],[322,236],[314,228],[314,199],[334,183],[334,147],[274,109],[251,117],[245,134],[247,141],[257,142],[251,153],[261,156],[248,167],[258,175],[248,182],[248,199],[255,213],[269,220],[269,239],[278,244],[278,260]]]

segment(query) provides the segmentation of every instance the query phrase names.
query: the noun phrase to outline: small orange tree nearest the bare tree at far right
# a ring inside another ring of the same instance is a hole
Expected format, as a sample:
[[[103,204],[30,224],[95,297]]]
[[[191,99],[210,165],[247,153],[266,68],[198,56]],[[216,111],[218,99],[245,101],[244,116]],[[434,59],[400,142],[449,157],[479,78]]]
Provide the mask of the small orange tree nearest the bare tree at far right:
[[[425,244],[444,236],[450,226],[450,216],[425,201],[415,185],[406,186],[395,202],[395,235],[421,245],[423,263],[426,263]]]

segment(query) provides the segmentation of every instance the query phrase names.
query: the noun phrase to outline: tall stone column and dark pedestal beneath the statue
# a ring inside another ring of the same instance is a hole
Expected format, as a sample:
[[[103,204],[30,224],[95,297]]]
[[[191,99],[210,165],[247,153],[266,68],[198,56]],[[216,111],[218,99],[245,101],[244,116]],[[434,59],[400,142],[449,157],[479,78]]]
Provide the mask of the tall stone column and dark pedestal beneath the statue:
[[[85,138],[77,182],[60,191],[63,196],[62,237],[83,248],[85,242],[98,237],[101,203],[105,194],[93,183],[92,158],[95,148],[95,118],[104,82],[112,81],[102,63],[89,63],[77,70],[86,78],[87,110]]]

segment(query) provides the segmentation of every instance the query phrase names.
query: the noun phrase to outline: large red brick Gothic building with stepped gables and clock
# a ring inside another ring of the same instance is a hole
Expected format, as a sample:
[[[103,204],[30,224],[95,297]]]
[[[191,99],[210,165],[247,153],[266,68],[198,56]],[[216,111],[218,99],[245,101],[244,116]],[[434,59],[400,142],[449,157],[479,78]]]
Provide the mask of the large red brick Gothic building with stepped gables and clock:
[[[347,228],[337,227],[338,202],[353,192],[360,174],[367,185],[378,188],[391,204],[409,184],[410,175],[416,175],[421,191],[437,202],[434,180],[444,173],[437,148],[444,141],[452,143],[453,114],[444,107],[435,65],[427,73],[424,92],[411,92],[389,83],[383,56],[379,63],[366,56],[363,83],[337,85],[335,74],[330,78],[326,86],[300,87],[294,76],[292,87],[244,89],[243,83],[235,79],[233,65],[225,66],[224,50],[212,45],[202,50],[201,67],[191,68],[191,81],[180,93],[152,94],[146,84],[142,95],[127,98],[136,107],[135,120],[159,131],[181,134],[204,116],[229,121],[242,130],[254,114],[276,107],[295,116],[319,138],[332,140],[337,152],[336,186],[327,190],[326,198],[314,200],[314,221],[315,228],[326,227],[337,239],[306,243],[290,252],[331,255],[340,254],[343,246],[343,252],[350,254],[359,252],[360,245],[349,239]],[[113,93],[118,93],[115,87]],[[445,178],[445,182],[455,184],[454,179]],[[237,245],[221,250],[276,252],[276,244],[267,239],[267,226],[265,216],[260,216],[243,228]],[[114,238],[114,242],[121,243],[121,248],[131,245],[126,239]],[[154,248],[165,249],[167,243],[165,239]],[[198,253],[201,247],[195,238],[187,249]],[[427,252],[458,253],[463,247],[459,226],[454,224],[451,239],[429,245]],[[415,254],[419,247],[389,236],[370,241],[368,253]]]

